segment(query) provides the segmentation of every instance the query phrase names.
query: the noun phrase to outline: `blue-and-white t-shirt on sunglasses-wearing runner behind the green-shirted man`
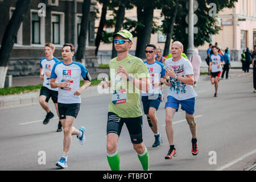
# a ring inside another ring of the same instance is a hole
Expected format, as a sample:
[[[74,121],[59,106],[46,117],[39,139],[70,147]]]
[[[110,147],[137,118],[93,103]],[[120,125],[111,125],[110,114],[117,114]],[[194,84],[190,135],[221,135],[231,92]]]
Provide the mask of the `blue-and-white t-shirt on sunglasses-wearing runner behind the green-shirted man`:
[[[148,64],[147,61],[145,61],[144,64],[146,65],[148,73],[150,74],[150,91],[147,93],[142,90],[141,95],[150,96],[153,94],[162,94],[160,86],[155,88],[155,86],[152,84],[155,82],[160,82],[161,76],[166,74],[166,70],[163,69],[164,65],[158,61],[155,61],[152,64]]]

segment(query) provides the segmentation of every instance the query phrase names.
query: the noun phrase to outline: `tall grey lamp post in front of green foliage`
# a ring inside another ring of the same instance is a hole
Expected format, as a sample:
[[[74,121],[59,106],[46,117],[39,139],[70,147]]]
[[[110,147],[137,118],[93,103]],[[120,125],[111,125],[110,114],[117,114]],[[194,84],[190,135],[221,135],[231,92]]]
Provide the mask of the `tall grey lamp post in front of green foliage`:
[[[193,0],[189,0],[189,11],[188,11],[188,49],[187,56],[188,59],[193,54],[194,47],[194,12],[193,12]]]

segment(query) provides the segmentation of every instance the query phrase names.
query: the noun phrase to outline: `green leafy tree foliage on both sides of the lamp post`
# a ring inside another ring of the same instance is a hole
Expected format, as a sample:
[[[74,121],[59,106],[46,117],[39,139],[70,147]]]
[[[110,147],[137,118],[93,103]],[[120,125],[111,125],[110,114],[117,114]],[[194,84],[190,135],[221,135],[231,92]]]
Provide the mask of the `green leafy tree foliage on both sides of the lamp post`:
[[[188,27],[188,24],[185,22],[185,17],[188,14],[186,2],[187,1],[180,1],[181,9],[177,13],[174,34],[172,35],[174,41],[179,40],[183,43],[184,52],[188,48],[188,34],[185,33],[185,28]],[[202,46],[205,42],[210,43],[210,35],[218,34],[221,30],[220,26],[217,24],[216,17],[209,15],[212,9],[212,7],[209,6],[210,3],[215,3],[217,14],[225,7],[234,7],[234,2],[237,2],[237,0],[198,0],[197,2],[199,7],[194,12],[198,17],[198,22],[195,24],[195,27],[198,28],[198,33],[194,34],[195,47]]]

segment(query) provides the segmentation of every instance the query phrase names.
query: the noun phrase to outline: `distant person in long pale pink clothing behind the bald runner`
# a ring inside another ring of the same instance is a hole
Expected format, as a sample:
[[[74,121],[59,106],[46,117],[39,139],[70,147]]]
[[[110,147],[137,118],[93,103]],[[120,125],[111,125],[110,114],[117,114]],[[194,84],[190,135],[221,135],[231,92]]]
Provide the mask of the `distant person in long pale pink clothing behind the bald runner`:
[[[201,57],[199,55],[198,49],[194,49],[193,55],[191,56],[191,64],[194,72],[194,87],[196,87],[196,82],[200,76],[200,64],[202,63]]]

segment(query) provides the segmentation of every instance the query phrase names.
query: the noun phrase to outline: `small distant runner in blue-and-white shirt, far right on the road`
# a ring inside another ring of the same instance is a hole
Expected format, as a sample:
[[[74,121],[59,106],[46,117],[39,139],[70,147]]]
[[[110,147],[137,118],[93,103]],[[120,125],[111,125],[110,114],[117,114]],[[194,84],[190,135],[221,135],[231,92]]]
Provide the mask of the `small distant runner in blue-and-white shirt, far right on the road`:
[[[220,75],[222,66],[225,64],[224,57],[218,53],[217,47],[212,47],[213,54],[210,55],[209,70],[212,71],[210,74],[210,83],[215,86],[214,97],[218,97],[218,82],[220,81]]]

